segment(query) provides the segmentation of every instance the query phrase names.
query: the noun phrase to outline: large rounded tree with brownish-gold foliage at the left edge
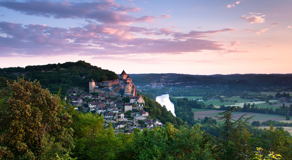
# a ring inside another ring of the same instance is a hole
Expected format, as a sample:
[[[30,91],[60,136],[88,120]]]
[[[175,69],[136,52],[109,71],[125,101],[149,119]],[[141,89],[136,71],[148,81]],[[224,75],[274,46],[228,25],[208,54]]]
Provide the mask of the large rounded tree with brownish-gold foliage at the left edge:
[[[63,157],[74,148],[71,117],[58,95],[39,82],[18,79],[0,96],[2,158],[54,159],[55,153]]]

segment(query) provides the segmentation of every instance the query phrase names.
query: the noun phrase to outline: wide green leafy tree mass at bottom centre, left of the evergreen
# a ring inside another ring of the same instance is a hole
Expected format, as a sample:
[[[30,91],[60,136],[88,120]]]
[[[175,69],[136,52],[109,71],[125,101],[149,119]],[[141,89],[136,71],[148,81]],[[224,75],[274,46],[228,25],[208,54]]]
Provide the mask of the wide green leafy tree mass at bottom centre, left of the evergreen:
[[[200,126],[187,129],[172,124],[135,132],[126,155],[132,159],[212,159],[210,136]]]

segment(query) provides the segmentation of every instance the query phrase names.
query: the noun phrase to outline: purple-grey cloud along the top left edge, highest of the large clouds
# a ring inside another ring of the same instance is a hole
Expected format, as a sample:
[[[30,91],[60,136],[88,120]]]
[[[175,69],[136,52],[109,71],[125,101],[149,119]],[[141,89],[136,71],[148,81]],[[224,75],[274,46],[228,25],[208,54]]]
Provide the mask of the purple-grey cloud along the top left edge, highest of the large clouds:
[[[142,16],[132,17],[127,13],[141,11],[133,4],[119,5],[114,1],[81,2],[69,1],[2,1],[0,6],[9,8],[27,15],[36,15],[53,18],[85,18],[101,23],[129,24],[133,22],[152,22],[157,18],[169,18],[162,14],[161,17]]]

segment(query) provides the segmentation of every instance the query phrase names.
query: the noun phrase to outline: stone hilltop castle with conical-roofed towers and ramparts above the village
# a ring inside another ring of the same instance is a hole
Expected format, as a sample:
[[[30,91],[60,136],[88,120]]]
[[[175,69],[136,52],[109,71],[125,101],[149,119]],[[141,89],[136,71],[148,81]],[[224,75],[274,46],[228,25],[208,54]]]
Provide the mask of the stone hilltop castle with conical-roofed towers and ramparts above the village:
[[[98,86],[106,86],[99,88]],[[128,96],[137,96],[137,90],[133,83],[132,78],[123,70],[120,74],[120,79],[111,81],[102,81],[95,83],[93,79],[89,81],[89,93],[101,92],[107,94],[123,94]]]

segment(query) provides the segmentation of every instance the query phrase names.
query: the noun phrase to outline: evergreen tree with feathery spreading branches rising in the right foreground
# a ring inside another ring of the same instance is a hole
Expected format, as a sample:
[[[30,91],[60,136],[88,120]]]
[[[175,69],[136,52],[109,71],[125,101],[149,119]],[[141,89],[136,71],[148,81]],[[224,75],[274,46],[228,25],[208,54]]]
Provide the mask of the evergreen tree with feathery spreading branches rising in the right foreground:
[[[247,114],[242,115],[239,119],[232,119],[232,113],[236,110],[236,107],[232,106],[228,111],[218,113],[215,116],[219,121],[224,121],[221,126],[216,126],[209,120],[209,124],[214,128],[214,132],[218,131],[220,136],[214,141],[219,159],[247,159],[252,155],[252,148],[248,145],[248,141],[251,140],[251,135],[247,131],[249,121],[254,117],[247,117]],[[234,149],[234,148],[237,149]]]

